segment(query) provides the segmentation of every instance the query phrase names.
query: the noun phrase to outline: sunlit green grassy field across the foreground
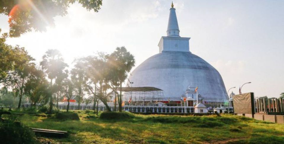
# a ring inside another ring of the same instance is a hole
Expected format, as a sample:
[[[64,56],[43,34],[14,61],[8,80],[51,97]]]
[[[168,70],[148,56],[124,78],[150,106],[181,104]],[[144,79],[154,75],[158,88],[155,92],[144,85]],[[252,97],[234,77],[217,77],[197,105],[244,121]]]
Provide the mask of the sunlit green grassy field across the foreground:
[[[80,120],[12,113],[28,127],[70,133],[67,138],[49,139],[53,143],[284,143],[284,125],[229,114],[222,117],[132,114],[131,119],[102,120],[93,112],[74,112]]]

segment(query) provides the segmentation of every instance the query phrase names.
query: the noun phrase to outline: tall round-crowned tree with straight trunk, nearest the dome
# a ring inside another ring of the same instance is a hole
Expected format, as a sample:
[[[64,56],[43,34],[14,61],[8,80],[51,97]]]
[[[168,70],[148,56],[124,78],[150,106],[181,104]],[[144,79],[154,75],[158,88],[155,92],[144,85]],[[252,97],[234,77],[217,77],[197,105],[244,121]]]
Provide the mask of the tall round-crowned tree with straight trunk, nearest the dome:
[[[110,64],[116,68],[118,82],[120,86],[120,94],[118,97],[119,111],[122,112],[122,83],[126,80],[127,74],[135,66],[135,59],[125,47],[117,47],[116,50],[109,57]]]

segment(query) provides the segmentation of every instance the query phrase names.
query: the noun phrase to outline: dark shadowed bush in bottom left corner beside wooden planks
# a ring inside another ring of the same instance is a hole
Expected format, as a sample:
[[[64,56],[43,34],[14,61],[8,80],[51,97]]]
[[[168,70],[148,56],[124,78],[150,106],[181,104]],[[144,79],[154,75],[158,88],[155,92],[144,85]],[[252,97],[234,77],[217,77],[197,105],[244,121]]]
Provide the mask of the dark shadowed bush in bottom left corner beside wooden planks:
[[[0,122],[0,143],[38,143],[35,133],[20,122],[5,120]]]

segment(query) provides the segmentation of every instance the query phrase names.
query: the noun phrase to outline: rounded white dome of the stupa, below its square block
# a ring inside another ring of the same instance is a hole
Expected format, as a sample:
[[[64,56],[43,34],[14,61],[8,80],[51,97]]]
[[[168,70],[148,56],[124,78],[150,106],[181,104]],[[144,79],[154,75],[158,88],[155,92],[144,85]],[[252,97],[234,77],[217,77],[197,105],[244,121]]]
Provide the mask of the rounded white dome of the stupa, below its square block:
[[[163,90],[166,99],[179,101],[188,84],[198,86],[204,101],[225,102],[226,89],[219,72],[189,52],[162,52],[141,63],[129,77],[133,87],[152,86]],[[130,85],[130,84],[129,84]],[[196,99],[196,95],[193,97]]]

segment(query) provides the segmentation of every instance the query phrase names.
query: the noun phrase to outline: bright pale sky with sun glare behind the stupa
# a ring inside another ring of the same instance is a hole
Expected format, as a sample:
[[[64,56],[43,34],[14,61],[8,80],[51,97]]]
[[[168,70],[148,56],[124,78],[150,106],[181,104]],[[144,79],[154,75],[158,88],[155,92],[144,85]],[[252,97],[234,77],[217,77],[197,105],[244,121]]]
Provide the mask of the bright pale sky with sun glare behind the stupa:
[[[238,94],[279,97],[284,92],[284,1],[173,1],[181,37],[191,37],[190,51],[221,74],[225,87]],[[72,67],[74,58],[112,53],[125,46],[135,56],[135,67],[159,53],[166,36],[171,1],[103,0],[99,12],[73,4],[46,32],[28,32],[8,38],[36,59],[48,49],[58,49]],[[8,17],[0,15],[2,32]],[[134,68],[133,68],[134,70]]]

